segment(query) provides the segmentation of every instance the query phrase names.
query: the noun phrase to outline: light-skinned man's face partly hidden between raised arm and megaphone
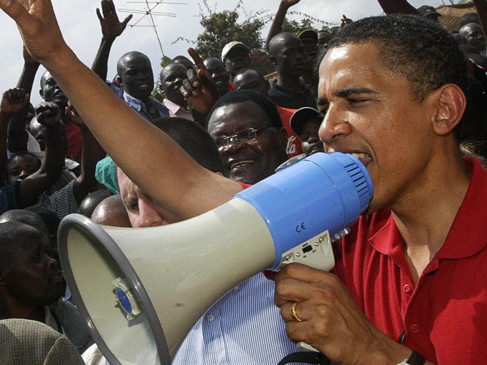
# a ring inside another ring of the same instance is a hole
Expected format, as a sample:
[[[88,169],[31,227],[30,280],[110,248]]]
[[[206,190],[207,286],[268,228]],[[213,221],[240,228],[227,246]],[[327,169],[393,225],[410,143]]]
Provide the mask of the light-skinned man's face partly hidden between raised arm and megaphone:
[[[117,170],[120,196],[125,209],[127,209],[132,227],[157,227],[181,220],[178,216],[159,207],[122,170]]]

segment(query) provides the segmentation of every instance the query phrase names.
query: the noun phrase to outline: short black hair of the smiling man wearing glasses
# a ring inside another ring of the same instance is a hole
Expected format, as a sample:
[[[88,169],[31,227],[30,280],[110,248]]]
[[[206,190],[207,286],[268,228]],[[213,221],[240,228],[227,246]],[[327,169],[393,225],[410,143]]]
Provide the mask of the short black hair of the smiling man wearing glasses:
[[[237,90],[223,95],[220,99],[216,101],[216,103],[213,105],[212,110],[210,111],[210,113],[208,113],[207,125],[216,108],[245,102],[251,102],[259,105],[271,119],[272,126],[282,128],[281,117],[279,116],[277,108],[275,104],[271,101],[271,99],[269,99],[265,95],[251,90]]]

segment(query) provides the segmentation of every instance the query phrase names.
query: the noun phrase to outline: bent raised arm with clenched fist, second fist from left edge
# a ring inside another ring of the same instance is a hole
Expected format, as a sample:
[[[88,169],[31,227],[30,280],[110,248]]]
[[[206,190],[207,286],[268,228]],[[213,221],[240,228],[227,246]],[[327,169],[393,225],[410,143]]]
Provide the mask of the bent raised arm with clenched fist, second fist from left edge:
[[[64,166],[64,146],[61,136],[64,126],[59,123],[61,111],[54,103],[41,103],[35,108],[37,121],[46,126],[46,152],[41,167],[22,181],[20,197],[24,207],[37,203],[39,195],[59,177]]]

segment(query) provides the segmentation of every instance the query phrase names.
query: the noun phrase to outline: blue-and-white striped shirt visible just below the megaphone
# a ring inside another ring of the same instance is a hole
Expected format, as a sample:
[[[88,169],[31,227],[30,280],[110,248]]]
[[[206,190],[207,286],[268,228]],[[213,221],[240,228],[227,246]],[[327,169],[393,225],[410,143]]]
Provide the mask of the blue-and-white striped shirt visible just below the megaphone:
[[[296,351],[274,303],[274,282],[259,273],[196,322],[172,365],[269,365]]]

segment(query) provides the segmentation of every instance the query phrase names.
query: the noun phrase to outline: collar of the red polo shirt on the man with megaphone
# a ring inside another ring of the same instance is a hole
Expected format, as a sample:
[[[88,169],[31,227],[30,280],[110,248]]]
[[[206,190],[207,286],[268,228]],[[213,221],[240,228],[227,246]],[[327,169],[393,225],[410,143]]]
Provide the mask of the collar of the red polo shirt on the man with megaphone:
[[[487,170],[475,157],[463,158],[472,173],[467,193],[455,216],[445,243],[436,259],[462,259],[475,255],[487,245]],[[403,238],[392,214],[379,231],[369,238],[369,244],[383,255],[403,251]]]

